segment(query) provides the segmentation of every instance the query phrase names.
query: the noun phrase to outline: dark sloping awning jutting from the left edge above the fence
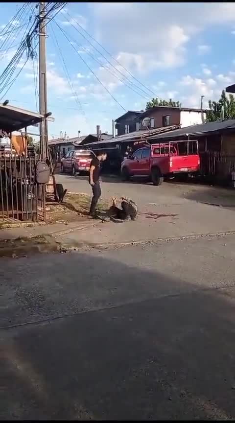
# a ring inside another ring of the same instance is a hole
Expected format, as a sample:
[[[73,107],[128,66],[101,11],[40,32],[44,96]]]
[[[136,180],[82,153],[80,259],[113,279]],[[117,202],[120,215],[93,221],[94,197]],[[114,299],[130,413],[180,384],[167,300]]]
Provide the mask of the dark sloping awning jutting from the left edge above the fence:
[[[29,112],[14,106],[0,104],[0,129],[7,133],[19,131],[27,126],[35,125],[42,121],[43,115]],[[47,118],[54,120],[53,118]]]

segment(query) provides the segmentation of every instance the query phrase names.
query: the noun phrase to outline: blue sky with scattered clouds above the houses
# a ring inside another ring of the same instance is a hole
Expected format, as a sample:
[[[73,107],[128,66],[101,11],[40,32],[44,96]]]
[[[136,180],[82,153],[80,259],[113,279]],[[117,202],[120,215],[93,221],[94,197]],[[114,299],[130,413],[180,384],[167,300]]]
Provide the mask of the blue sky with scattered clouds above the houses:
[[[0,3],[0,74],[38,12],[28,3],[5,34],[22,4]],[[234,44],[233,2],[68,3],[47,26],[49,138],[95,133],[96,125],[111,133],[112,119],[156,96],[199,108],[204,95],[208,107],[235,83]],[[38,111],[37,86],[38,61],[29,59],[0,101]]]

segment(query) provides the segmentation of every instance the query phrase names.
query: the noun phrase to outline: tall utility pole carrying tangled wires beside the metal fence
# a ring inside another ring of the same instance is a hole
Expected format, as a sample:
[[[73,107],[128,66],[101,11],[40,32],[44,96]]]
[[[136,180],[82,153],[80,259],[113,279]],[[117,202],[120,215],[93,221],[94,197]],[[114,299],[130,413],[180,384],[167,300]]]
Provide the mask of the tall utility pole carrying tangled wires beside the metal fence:
[[[46,19],[44,1],[39,2],[39,108],[40,114],[47,114],[47,63],[46,63]],[[47,157],[47,119],[40,123],[40,151],[42,157]]]

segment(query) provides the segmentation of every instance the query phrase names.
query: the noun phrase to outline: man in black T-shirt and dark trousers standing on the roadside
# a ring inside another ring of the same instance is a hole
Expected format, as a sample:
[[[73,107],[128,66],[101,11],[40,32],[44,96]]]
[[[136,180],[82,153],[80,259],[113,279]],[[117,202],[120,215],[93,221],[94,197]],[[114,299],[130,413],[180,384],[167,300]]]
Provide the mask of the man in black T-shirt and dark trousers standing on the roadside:
[[[92,187],[93,197],[92,197],[92,203],[91,203],[91,208],[89,213],[90,216],[95,216],[95,209],[98,203],[98,199],[101,195],[101,188],[100,188],[101,162],[103,162],[106,159],[107,159],[107,153],[100,152],[91,161],[89,183]]]

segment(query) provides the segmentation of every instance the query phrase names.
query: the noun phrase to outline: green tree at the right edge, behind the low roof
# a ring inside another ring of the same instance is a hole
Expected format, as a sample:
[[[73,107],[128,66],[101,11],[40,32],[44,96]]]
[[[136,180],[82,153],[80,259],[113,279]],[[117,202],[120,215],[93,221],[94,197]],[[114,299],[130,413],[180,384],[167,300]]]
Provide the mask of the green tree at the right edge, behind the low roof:
[[[219,101],[209,100],[208,105],[210,110],[207,112],[207,122],[235,119],[235,98],[233,94],[229,94],[227,97],[223,90]]]

